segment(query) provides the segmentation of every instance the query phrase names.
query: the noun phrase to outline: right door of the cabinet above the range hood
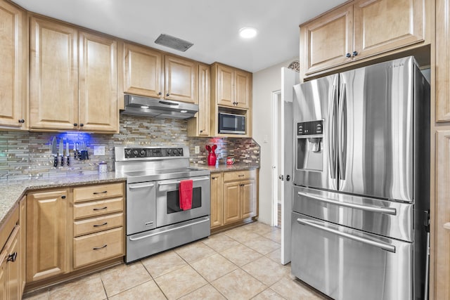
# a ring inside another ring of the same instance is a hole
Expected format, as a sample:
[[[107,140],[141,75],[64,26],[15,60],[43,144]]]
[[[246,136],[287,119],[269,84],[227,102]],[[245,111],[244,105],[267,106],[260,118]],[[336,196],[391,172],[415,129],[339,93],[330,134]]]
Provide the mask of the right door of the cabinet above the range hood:
[[[165,97],[198,103],[198,64],[174,56],[165,57]]]

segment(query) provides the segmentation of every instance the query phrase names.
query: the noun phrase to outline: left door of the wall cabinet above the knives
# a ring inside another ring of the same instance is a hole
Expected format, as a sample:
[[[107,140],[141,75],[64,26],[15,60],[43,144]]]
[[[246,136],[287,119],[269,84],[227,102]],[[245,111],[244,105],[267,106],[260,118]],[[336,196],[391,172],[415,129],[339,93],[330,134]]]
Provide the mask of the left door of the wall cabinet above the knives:
[[[76,129],[77,30],[40,18],[30,22],[30,129]]]

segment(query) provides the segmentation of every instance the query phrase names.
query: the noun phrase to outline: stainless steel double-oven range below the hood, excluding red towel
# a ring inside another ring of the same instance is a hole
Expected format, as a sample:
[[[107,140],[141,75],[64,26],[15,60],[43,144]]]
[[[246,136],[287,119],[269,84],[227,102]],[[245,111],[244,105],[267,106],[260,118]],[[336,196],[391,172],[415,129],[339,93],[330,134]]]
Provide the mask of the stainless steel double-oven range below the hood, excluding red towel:
[[[187,147],[115,147],[127,177],[127,263],[210,235],[210,171],[189,167]],[[179,206],[179,183],[192,179],[192,208]]]

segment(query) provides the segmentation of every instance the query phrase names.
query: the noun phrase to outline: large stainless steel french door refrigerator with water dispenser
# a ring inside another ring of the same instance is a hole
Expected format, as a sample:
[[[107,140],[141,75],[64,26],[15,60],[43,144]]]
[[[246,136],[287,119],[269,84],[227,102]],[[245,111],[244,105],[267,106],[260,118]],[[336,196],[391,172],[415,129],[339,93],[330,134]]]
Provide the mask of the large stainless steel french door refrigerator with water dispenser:
[[[333,299],[424,299],[430,85],[416,61],[294,89],[293,275]]]

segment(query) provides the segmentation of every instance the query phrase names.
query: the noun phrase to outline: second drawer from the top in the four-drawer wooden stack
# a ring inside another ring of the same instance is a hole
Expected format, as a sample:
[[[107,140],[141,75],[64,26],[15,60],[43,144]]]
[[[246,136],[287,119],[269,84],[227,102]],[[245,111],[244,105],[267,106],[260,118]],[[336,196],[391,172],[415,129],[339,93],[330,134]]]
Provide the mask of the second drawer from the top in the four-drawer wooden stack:
[[[101,201],[92,201],[74,204],[73,219],[88,218],[89,216],[101,216],[113,212],[123,211],[124,198],[114,198]]]

